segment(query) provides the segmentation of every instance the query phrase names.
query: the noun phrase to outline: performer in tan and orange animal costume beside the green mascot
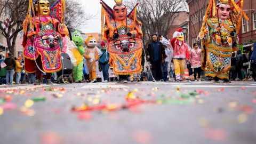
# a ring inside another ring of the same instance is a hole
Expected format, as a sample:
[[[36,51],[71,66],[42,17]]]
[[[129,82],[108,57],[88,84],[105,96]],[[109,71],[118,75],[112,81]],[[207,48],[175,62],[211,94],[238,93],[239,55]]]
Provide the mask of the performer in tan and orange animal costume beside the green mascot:
[[[84,58],[87,60],[87,68],[89,70],[90,81],[97,82],[97,61],[99,60],[100,53],[99,48],[95,46],[96,39],[91,35],[85,39],[86,47],[84,47]]]

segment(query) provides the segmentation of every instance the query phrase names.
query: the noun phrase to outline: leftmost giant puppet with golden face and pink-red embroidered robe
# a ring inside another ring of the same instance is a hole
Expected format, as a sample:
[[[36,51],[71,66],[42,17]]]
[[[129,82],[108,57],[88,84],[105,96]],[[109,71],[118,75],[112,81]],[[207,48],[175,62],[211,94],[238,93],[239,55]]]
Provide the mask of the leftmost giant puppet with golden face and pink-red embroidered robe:
[[[40,84],[42,73],[46,73],[47,84],[52,84],[51,73],[62,68],[62,39],[68,35],[64,15],[65,0],[59,0],[51,9],[47,0],[29,0],[28,15],[23,21],[23,55],[27,73],[36,72],[34,84]]]

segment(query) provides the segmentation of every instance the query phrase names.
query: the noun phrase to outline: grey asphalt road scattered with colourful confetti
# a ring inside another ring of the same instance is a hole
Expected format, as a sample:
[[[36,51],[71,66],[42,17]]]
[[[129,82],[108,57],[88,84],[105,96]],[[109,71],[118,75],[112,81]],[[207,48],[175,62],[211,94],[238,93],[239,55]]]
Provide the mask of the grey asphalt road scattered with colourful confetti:
[[[0,86],[0,143],[256,143],[256,83]]]

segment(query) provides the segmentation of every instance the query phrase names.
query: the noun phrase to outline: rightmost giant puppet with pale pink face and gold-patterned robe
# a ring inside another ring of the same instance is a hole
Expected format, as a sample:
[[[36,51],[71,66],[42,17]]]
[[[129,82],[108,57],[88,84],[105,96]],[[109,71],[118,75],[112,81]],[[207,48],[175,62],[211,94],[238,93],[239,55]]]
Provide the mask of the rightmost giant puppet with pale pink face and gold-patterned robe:
[[[231,52],[237,51],[237,33],[242,17],[248,20],[243,10],[243,0],[210,0],[204,16],[204,23],[198,40],[202,42],[202,69],[205,76],[213,77],[215,82],[223,79],[229,82],[228,75],[231,64]]]

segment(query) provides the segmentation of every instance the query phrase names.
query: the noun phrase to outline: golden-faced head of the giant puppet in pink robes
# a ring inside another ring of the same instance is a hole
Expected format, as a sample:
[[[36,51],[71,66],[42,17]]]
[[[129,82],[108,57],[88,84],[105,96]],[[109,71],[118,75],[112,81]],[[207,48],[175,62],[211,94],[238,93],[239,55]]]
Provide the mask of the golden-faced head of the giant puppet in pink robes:
[[[47,0],[36,0],[35,10],[39,15],[49,16],[50,15],[50,3]]]

